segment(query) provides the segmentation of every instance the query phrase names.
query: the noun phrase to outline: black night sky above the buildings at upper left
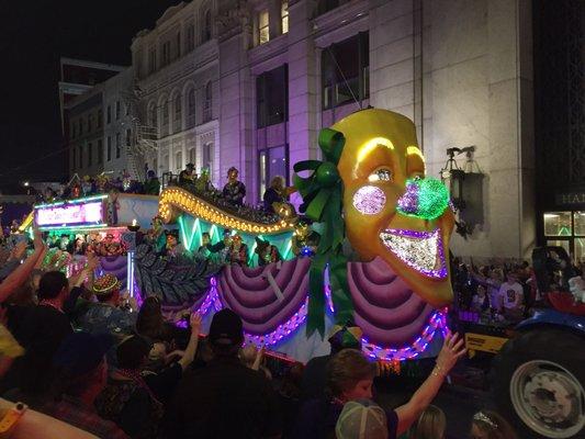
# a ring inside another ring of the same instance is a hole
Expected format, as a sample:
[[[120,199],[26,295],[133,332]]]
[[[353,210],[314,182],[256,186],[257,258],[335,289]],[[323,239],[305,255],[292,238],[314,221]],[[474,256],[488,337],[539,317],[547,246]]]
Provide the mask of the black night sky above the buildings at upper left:
[[[0,188],[61,180],[59,58],[130,66],[132,37],[179,0],[0,0]]]

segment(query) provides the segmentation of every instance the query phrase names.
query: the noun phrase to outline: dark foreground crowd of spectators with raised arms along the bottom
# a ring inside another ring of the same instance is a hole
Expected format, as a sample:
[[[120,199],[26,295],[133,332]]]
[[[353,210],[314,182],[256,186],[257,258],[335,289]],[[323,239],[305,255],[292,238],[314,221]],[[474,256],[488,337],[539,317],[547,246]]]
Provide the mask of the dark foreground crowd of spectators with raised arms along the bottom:
[[[292,362],[273,376],[263,349],[245,346],[234,312],[217,312],[203,337],[200,315],[165,318],[157,297],[138,306],[115,277],[94,279],[97,257],[88,256],[87,266],[67,279],[40,270],[45,251],[36,234],[34,251],[25,257],[23,246],[14,247],[0,270],[0,407],[29,406],[14,437],[445,435],[445,415],[429,404],[465,353],[458,335],[446,338],[409,401],[381,407],[374,402],[376,364],[361,352],[361,331],[351,324],[334,327],[330,354],[306,365]],[[471,425],[473,438],[515,437],[491,412],[477,413]],[[438,427],[440,434],[430,432]]]

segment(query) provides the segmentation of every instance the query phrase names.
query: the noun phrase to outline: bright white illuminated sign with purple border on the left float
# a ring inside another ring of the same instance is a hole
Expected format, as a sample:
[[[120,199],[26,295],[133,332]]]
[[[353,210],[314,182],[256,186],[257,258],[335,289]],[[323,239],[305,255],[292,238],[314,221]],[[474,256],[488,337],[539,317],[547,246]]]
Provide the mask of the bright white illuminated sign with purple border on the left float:
[[[40,227],[91,226],[103,223],[103,203],[43,205],[35,209],[35,222]]]

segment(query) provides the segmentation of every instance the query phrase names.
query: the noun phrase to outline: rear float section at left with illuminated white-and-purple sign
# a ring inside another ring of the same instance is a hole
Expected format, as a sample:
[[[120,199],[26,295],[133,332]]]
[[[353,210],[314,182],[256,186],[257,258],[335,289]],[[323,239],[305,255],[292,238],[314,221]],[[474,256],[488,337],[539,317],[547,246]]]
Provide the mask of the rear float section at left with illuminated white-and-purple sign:
[[[70,275],[83,268],[90,250],[100,257],[99,274],[116,275],[134,294],[134,282],[128,280],[134,279],[135,232],[149,228],[157,210],[157,196],[111,192],[37,204],[20,228],[45,233],[49,244],[45,267]]]

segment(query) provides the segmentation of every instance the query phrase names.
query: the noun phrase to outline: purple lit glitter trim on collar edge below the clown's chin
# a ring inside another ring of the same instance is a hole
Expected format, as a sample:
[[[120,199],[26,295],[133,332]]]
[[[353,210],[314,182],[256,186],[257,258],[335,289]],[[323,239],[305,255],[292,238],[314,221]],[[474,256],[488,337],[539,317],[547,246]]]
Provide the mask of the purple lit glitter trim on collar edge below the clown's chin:
[[[432,313],[428,325],[423,329],[423,334],[410,346],[405,346],[400,349],[389,349],[371,344],[365,337],[362,337],[362,350],[372,359],[386,361],[412,360],[427,349],[428,345],[437,335],[437,330],[440,330],[443,337],[449,331],[449,327],[447,326],[447,309]]]

